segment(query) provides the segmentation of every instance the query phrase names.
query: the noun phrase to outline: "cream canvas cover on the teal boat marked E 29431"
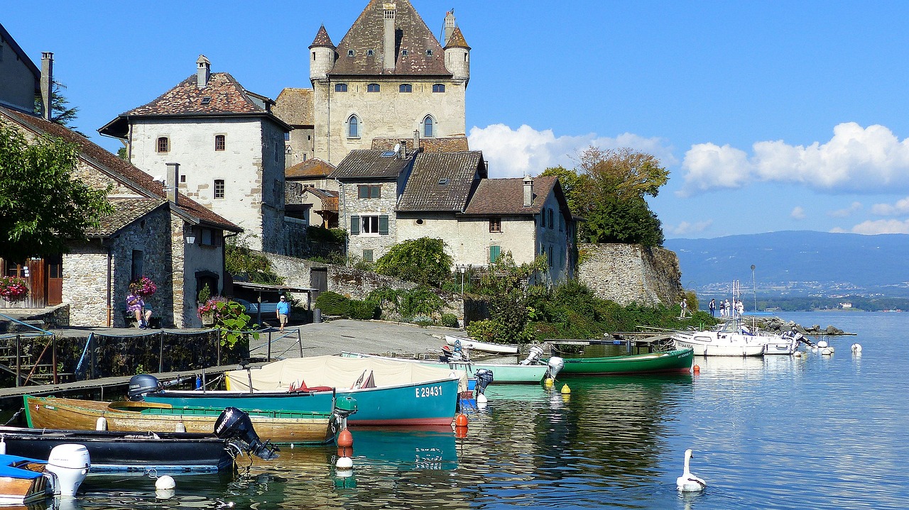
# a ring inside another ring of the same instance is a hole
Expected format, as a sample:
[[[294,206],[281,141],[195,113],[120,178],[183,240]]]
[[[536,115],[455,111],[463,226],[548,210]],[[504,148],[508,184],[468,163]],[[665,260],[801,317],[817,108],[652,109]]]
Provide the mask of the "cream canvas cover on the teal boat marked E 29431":
[[[467,389],[464,370],[437,368],[393,359],[341,358],[313,356],[288,358],[261,368],[225,372],[227,387],[232,391],[287,391],[294,387],[386,387],[422,384],[429,381],[460,379],[458,391]]]

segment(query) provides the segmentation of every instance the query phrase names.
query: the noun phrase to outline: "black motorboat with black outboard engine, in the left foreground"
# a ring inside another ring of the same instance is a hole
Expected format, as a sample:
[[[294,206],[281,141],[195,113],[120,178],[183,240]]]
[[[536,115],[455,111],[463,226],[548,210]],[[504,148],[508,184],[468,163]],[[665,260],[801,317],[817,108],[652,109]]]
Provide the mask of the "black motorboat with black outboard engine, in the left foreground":
[[[233,471],[240,453],[265,460],[277,456],[275,446],[259,440],[245,412],[225,409],[215,423],[209,434],[0,427],[0,445],[7,454],[42,458],[56,446],[83,445],[93,475],[218,473]]]

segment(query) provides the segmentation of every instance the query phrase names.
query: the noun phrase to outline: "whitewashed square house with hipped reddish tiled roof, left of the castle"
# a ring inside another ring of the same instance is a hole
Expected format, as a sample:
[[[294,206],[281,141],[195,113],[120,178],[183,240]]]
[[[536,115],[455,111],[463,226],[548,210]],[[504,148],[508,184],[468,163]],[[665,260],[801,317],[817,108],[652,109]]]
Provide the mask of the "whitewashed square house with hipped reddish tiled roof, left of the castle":
[[[177,186],[249,235],[250,248],[286,250],[285,132],[275,102],[227,73],[211,73],[204,55],[196,73],[151,103],[121,113],[98,130],[125,142],[129,161],[163,179],[180,164]]]

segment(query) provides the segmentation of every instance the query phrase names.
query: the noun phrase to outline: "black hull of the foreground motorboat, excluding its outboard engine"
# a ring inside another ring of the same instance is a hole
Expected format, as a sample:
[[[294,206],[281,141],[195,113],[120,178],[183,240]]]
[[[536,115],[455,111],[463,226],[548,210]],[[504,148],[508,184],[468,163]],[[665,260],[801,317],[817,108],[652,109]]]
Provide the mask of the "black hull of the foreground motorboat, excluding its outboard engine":
[[[90,474],[144,475],[154,469],[169,475],[232,471],[227,442],[211,434],[179,432],[122,433],[0,427],[6,453],[47,458],[55,446],[84,445],[92,459]]]

